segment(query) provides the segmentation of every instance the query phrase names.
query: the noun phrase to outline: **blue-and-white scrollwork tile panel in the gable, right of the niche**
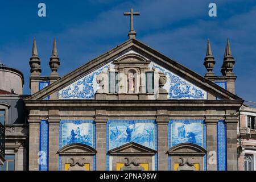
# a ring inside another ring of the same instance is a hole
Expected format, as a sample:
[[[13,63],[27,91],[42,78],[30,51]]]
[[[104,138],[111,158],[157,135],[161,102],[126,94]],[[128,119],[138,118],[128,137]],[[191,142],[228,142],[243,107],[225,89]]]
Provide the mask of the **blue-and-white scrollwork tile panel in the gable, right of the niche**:
[[[149,67],[156,69],[156,71],[160,71],[167,76],[167,82],[164,85],[164,89],[168,92],[168,99],[207,99],[207,92],[191,84],[191,82],[184,80],[155,63],[151,62]]]

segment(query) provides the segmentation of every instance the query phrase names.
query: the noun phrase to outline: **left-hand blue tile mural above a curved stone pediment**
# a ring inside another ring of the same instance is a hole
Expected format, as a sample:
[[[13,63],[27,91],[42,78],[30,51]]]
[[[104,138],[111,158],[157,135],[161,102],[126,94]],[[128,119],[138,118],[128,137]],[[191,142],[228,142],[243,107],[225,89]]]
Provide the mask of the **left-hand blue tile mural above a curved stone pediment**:
[[[95,148],[94,130],[93,121],[61,121],[60,148],[72,143],[83,143]]]

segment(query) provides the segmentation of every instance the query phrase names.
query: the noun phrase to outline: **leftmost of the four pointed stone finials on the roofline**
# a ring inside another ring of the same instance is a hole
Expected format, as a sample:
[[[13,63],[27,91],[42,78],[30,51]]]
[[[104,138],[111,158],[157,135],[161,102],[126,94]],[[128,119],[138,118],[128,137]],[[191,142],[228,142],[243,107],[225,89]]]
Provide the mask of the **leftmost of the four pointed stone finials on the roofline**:
[[[32,55],[30,57],[31,76],[40,76],[40,73],[42,72],[40,65],[41,62],[38,57],[38,49],[36,48],[36,40],[34,38],[32,46]]]

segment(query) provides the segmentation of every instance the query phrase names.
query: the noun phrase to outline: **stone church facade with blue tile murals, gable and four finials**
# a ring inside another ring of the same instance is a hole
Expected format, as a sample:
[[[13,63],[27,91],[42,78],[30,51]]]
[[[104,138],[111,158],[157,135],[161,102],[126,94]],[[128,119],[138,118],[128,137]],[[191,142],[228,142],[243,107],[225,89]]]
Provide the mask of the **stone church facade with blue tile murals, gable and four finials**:
[[[237,170],[238,110],[228,42],[222,76],[207,44],[205,77],[135,39],[59,77],[53,43],[40,76],[30,59],[28,169]]]

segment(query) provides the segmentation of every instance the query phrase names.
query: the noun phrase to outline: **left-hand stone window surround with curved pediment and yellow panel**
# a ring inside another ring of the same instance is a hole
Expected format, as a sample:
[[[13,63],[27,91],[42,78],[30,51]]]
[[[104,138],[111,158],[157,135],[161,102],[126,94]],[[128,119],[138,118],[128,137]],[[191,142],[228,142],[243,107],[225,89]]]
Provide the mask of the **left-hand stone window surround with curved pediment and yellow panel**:
[[[68,144],[57,152],[61,158],[61,171],[93,171],[93,156],[97,151],[82,143]]]

